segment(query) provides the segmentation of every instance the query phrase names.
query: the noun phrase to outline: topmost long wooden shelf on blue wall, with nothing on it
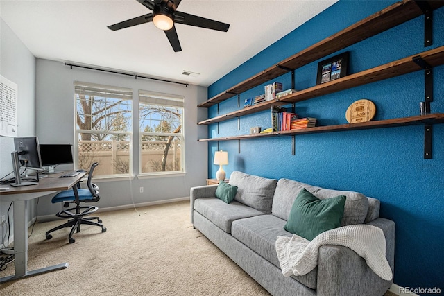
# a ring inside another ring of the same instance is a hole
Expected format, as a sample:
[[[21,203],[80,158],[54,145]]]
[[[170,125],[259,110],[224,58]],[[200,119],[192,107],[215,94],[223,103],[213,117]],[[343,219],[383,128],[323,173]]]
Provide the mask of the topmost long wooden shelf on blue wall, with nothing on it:
[[[432,9],[444,6],[444,1],[427,1],[427,3]],[[232,96],[246,92],[248,89],[262,85],[284,73],[288,73],[289,71],[319,60],[320,58],[324,58],[336,51],[345,49],[347,46],[377,35],[378,33],[398,26],[399,24],[414,19],[422,14],[422,10],[415,1],[404,0],[394,3],[393,5],[388,6],[388,8],[370,15],[369,17],[358,21],[356,24],[353,24],[336,34],[309,46],[307,49],[282,60],[278,64],[257,73],[255,76],[230,87],[230,89],[227,89],[225,92],[221,92],[208,99],[205,103],[201,103],[198,107],[211,107],[214,104],[221,103]]]

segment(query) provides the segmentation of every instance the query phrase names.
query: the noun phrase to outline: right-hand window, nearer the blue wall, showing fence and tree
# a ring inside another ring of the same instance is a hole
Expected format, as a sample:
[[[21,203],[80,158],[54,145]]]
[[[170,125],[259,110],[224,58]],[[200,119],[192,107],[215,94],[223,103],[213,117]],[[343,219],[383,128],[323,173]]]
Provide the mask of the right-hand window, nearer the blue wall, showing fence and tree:
[[[139,173],[182,173],[183,97],[139,90]]]

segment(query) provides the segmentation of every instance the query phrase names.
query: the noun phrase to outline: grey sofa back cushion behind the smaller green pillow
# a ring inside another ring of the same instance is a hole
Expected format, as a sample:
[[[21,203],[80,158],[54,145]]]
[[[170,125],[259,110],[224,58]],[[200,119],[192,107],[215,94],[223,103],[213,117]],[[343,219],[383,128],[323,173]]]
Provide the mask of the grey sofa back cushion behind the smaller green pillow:
[[[234,171],[230,175],[230,184],[237,186],[234,200],[266,214],[271,214],[271,204],[278,180],[267,179]]]

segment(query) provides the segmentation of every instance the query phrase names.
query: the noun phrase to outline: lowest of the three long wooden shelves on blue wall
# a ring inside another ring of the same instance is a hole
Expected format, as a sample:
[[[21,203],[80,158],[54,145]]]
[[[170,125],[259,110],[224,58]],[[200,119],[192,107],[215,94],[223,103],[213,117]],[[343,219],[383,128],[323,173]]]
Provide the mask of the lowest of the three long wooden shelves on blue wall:
[[[316,126],[314,128],[302,128],[300,130],[284,130],[280,132],[268,132],[264,134],[244,134],[240,136],[220,137],[210,139],[198,139],[198,141],[231,141],[243,139],[262,139],[266,137],[296,136],[298,134],[316,134],[321,132],[340,132],[345,130],[370,130],[373,128],[393,128],[402,125],[444,123],[444,113],[427,114],[425,116],[411,116],[398,119],[384,119],[363,123],[348,123],[339,125]]]

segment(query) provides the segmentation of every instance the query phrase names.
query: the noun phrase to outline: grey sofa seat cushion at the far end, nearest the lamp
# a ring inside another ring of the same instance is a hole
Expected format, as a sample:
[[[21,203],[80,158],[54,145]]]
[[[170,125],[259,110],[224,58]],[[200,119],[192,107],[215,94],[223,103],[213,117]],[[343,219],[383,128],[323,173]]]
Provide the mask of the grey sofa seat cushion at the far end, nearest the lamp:
[[[227,204],[219,198],[198,198],[194,201],[194,210],[228,234],[231,233],[231,224],[234,220],[264,215],[262,211],[247,207],[240,202],[233,201]]]

